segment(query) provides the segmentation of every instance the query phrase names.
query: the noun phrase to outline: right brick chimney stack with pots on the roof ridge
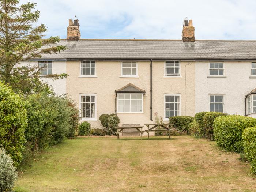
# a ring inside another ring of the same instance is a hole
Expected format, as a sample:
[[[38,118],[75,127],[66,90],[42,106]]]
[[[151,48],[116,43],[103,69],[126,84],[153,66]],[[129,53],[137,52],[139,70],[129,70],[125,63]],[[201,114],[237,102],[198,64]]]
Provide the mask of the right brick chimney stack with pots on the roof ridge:
[[[195,27],[193,27],[193,21],[188,18],[184,19],[183,30],[182,30],[182,41],[183,42],[195,42]]]

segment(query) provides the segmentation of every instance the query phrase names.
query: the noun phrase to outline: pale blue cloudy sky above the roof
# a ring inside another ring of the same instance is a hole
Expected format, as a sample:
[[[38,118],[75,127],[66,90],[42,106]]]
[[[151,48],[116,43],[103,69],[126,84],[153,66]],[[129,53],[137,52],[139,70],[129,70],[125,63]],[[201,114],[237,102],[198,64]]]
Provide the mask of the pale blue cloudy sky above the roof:
[[[76,16],[83,39],[181,39],[188,17],[198,40],[256,40],[256,0],[29,1],[37,3],[46,37],[65,39]]]

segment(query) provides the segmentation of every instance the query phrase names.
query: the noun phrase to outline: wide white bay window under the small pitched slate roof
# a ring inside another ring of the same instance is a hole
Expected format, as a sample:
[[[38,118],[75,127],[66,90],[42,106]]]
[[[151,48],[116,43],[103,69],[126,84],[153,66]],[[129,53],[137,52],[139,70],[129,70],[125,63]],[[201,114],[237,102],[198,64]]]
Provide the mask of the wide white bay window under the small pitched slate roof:
[[[143,93],[118,93],[118,113],[143,113]]]

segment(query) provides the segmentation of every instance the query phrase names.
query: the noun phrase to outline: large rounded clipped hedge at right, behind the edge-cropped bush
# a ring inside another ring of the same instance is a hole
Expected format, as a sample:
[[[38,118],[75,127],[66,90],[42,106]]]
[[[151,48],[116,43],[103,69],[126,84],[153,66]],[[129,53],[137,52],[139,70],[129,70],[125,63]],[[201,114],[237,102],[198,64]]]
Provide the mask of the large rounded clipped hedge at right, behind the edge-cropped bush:
[[[238,115],[220,116],[214,120],[214,138],[227,151],[243,151],[242,132],[256,126],[256,118]]]

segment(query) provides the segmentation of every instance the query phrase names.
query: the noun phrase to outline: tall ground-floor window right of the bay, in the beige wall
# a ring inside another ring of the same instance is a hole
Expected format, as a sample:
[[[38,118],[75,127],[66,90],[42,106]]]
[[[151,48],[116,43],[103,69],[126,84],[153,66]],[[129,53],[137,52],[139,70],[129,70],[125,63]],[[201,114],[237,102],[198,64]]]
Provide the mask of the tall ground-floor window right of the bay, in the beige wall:
[[[180,116],[180,94],[165,94],[165,119]]]

